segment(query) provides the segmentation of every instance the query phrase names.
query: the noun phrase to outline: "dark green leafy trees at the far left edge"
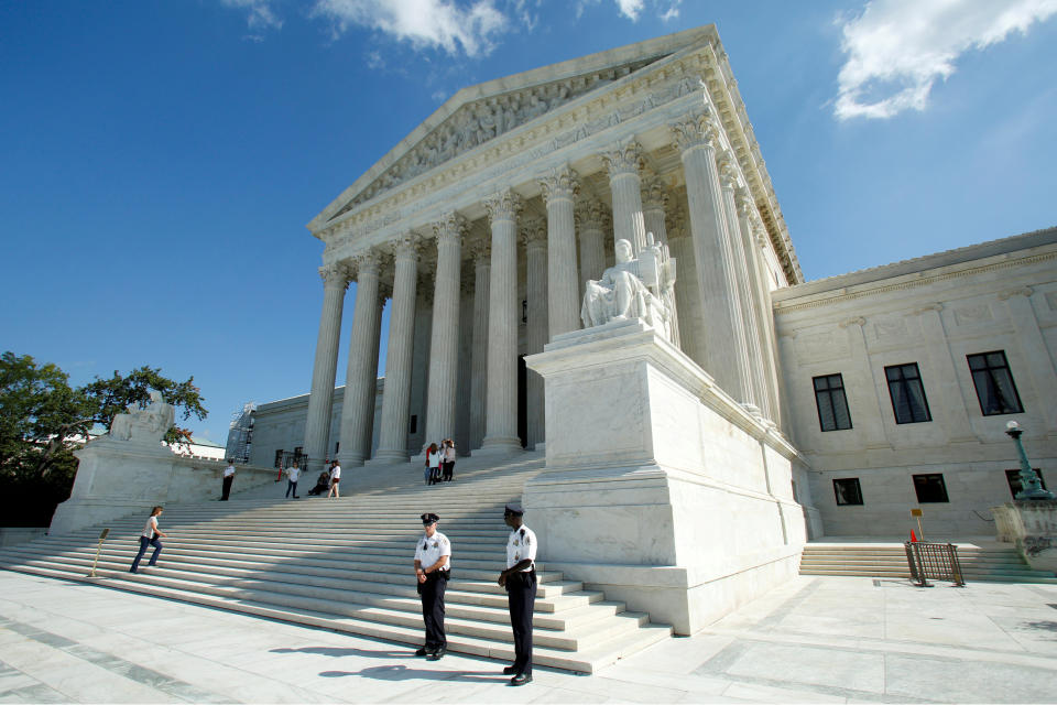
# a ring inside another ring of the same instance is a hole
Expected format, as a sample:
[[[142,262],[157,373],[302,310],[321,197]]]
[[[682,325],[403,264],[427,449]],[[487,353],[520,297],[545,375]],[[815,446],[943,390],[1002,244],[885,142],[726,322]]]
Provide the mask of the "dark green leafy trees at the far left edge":
[[[77,458],[73,452],[95,424],[108,430],[132,404],[145,408],[157,390],[184,421],[206,417],[194,377],[177,382],[161,368],[143,366],[122,376],[96,378],[72,388],[55,365],[29,355],[0,356],[0,517],[4,525],[44,525],[55,505],[69,497]],[[173,426],[164,440],[189,443],[190,431]]]

